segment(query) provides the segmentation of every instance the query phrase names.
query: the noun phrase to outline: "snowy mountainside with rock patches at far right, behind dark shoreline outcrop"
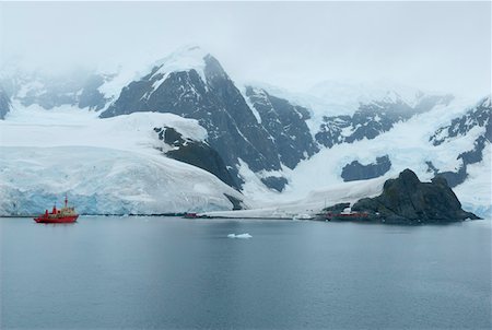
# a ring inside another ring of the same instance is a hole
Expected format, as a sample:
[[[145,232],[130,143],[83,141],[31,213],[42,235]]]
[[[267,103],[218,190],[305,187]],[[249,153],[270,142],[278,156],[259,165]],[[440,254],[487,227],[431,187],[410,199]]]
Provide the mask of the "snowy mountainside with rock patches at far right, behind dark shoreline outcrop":
[[[430,180],[436,175],[444,176],[455,187],[455,192],[468,210],[490,216],[491,143],[487,138],[490,134],[490,119],[479,119],[475,126],[470,119],[470,114],[478,113],[481,114],[479,118],[491,117],[492,108],[488,99],[489,97],[471,107],[467,102],[456,99],[448,105],[440,105],[432,110],[414,115],[406,121],[396,122],[390,130],[374,139],[321,149],[288,176],[289,192],[302,196],[301,191],[304,191],[306,195],[312,190],[309,187],[329,190],[329,187],[347,179],[348,167],[354,167],[353,174],[361,176],[361,184],[362,179],[380,175],[390,178],[405,168],[412,168],[422,180]],[[462,134],[450,134],[453,137],[448,137],[445,143],[433,143],[435,140],[432,137],[436,132],[443,132],[442,128],[455,131],[457,122],[468,122],[468,127],[473,128],[461,130]],[[468,162],[471,163],[464,166]],[[430,164],[437,172],[431,168]],[[459,172],[465,173],[465,179],[453,185],[446,173]],[[374,173],[377,175],[372,175]]]

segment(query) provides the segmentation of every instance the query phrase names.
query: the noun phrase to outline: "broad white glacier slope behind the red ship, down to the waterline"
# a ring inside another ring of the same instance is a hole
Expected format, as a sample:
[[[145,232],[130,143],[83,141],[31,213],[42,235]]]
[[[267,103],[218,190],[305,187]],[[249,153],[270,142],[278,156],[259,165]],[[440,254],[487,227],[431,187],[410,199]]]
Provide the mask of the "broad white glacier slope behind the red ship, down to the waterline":
[[[82,213],[231,210],[244,197],[212,174],[162,155],[154,127],[202,141],[196,120],[138,113],[98,119],[70,107],[16,107],[0,121],[0,214],[36,213],[65,193]]]

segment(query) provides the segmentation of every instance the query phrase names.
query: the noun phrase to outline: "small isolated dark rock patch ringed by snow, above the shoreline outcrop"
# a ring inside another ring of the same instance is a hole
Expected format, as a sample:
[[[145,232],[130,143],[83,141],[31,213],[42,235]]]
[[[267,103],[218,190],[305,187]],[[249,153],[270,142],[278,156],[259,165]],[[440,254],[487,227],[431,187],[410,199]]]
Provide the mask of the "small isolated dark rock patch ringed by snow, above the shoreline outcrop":
[[[343,181],[366,180],[383,176],[391,168],[388,155],[376,158],[376,163],[362,165],[359,161],[353,161],[342,168],[341,177]]]

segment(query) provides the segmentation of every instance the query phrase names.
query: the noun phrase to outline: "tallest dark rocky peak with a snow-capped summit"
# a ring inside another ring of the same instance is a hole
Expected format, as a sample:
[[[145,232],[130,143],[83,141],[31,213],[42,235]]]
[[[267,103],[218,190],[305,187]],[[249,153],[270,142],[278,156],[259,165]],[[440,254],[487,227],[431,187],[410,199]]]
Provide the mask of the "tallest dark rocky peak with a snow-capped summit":
[[[268,173],[278,172],[285,164],[280,157],[284,154],[281,149],[285,135],[277,141],[271,130],[266,129],[268,122],[258,121],[219,61],[198,47],[181,49],[157,61],[148,74],[126,85],[101,117],[136,111],[172,113],[197,119],[207,129],[210,145],[229,166],[236,187],[244,182],[238,175],[239,160],[251,170],[265,173],[267,185],[272,180]],[[307,128],[305,133],[308,134]],[[302,151],[296,158],[285,160],[289,163],[285,165],[292,166],[304,157]],[[283,186],[278,187],[282,189]]]

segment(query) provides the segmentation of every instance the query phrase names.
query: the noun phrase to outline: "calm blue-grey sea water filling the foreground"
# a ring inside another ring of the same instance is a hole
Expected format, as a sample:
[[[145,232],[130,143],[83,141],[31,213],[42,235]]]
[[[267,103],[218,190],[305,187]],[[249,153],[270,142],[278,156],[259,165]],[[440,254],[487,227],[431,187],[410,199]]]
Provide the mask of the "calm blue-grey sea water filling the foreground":
[[[0,231],[2,329],[491,328],[490,221],[0,219]]]

